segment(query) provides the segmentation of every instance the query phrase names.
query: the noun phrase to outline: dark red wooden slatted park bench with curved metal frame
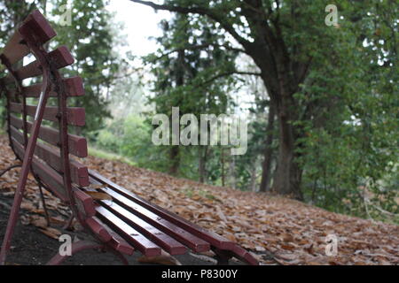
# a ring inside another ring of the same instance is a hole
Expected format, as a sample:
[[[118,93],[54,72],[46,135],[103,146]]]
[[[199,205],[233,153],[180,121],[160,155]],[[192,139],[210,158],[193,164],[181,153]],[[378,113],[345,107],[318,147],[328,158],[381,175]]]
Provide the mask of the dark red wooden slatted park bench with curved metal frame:
[[[70,207],[68,226],[75,218],[95,239],[74,242],[72,254],[83,249],[102,249],[128,264],[125,255],[132,255],[135,250],[145,256],[158,256],[162,249],[171,255],[182,255],[188,249],[196,253],[212,249],[218,264],[228,264],[231,257],[258,264],[235,242],[145,201],[77,161],[75,157],[88,155],[87,142],[84,137],[68,133],[68,127],[84,126],[85,112],[83,108],[69,107],[67,100],[84,95],[82,79],[64,78],[59,72],[72,65],[74,58],[65,46],[47,51],[54,36],[55,31],[40,11],[33,11],[0,55],[7,70],[0,78],[0,96],[6,99],[7,132],[10,146],[21,162],[4,170],[21,167],[0,264],[5,263],[11,246],[29,172],[38,183],[43,208],[45,188]],[[22,65],[22,59],[29,54],[35,61]],[[30,85],[24,85],[23,80]],[[95,194],[90,191],[109,195],[112,200],[93,199]],[[58,253],[48,264],[61,264],[65,259]]]

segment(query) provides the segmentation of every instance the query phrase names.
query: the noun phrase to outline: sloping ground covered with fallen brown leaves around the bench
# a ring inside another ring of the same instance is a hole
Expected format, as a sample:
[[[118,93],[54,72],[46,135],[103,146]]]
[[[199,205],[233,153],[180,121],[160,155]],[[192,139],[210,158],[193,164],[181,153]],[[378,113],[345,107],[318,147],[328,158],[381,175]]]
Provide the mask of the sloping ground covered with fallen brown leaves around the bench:
[[[262,264],[399,264],[399,226],[332,213],[283,197],[177,179],[119,161],[88,157],[84,162],[148,201],[237,241]],[[7,137],[0,135],[0,171],[10,164],[16,164],[15,157]],[[0,178],[0,238],[18,177],[19,169],[15,169]],[[30,176],[11,263],[43,264],[58,249],[56,239],[63,233],[59,227],[69,211],[50,193],[46,192],[45,198],[52,228],[45,226],[38,189]],[[326,255],[328,235],[337,239],[335,256]],[[91,253],[82,253],[66,264],[117,264],[114,258]],[[167,257],[163,263],[214,264],[209,256]],[[145,261],[138,256],[132,260]]]

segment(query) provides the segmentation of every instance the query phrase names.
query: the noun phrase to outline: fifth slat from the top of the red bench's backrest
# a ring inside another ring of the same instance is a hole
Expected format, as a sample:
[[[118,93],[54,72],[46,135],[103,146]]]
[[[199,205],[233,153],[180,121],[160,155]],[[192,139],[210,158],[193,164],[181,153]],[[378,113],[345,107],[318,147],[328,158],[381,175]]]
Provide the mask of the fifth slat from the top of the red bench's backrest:
[[[10,124],[18,129],[23,128],[23,121],[10,115]],[[32,123],[27,121],[27,131],[30,132],[32,128]],[[59,131],[47,126],[41,126],[39,131],[39,138],[44,142],[49,142],[52,145],[59,146]],[[74,134],[68,134],[68,146],[69,153],[73,154],[75,157],[87,157],[87,140],[81,136]]]

